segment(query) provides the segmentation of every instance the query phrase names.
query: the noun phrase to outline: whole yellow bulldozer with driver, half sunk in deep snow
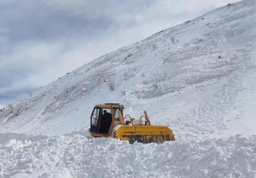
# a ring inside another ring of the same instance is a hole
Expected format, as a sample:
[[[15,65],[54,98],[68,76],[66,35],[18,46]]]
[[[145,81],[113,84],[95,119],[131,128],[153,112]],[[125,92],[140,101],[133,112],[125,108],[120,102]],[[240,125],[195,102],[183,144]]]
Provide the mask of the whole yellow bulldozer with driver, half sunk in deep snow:
[[[130,115],[123,116],[123,105],[105,103],[95,105],[89,129],[93,137],[113,137],[129,143],[163,143],[174,141],[174,134],[167,126],[151,125],[146,111],[135,120]],[[137,121],[137,122],[136,122]]]

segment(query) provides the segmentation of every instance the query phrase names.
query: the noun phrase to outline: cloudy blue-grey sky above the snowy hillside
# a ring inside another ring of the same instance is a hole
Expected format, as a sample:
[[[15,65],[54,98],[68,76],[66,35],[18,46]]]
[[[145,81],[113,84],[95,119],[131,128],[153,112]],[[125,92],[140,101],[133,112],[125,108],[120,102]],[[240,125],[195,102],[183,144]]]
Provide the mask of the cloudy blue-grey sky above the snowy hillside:
[[[0,0],[0,108],[104,54],[237,0]]]

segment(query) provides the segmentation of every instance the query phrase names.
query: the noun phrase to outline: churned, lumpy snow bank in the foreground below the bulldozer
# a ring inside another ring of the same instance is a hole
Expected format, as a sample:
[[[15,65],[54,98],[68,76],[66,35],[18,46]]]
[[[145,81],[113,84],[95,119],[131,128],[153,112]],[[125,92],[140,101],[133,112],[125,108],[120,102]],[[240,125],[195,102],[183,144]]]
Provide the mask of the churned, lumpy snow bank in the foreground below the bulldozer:
[[[0,143],[0,155],[0,177],[256,177],[256,136],[162,145],[80,134],[14,137]]]

